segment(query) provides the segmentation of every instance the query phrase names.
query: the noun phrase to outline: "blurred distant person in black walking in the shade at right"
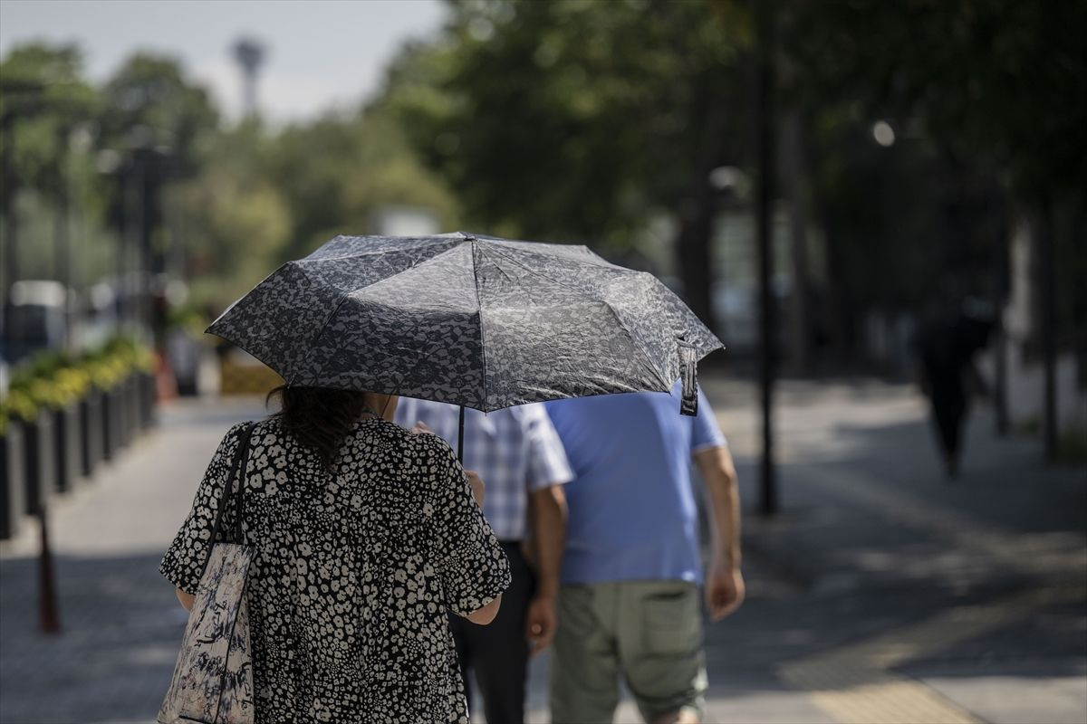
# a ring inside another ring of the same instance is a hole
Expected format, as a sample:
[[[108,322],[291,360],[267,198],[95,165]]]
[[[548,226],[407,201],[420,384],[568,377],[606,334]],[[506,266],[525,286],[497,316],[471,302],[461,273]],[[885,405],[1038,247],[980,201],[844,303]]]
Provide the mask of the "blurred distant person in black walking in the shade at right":
[[[914,339],[921,388],[928,397],[949,479],[959,474],[971,396],[986,392],[975,358],[988,345],[995,327],[991,309],[967,302],[928,320]]]

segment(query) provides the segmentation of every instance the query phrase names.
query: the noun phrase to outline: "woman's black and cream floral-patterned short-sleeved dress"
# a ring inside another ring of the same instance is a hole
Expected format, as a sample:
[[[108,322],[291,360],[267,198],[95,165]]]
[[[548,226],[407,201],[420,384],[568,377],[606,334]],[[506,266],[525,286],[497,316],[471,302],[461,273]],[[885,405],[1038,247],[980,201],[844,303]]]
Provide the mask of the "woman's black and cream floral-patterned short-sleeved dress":
[[[162,561],[183,590],[196,592],[241,427]],[[275,419],[260,422],[242,524],[259,723],[467,721],[447,609],[480,608],[510,573],[445,441],[366,419],[332,475]]]

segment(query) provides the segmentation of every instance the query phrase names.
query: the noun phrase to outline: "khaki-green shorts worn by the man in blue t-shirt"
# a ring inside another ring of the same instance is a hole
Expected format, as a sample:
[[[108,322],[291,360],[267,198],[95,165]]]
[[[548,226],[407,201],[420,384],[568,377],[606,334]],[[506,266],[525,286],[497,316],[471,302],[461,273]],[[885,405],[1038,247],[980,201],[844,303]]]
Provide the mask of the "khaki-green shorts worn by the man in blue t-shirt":
[[[647,722],[705,706],[699,589],[684,581],[564,585],[551,659],[551,721],[611,722],[622,676]]]

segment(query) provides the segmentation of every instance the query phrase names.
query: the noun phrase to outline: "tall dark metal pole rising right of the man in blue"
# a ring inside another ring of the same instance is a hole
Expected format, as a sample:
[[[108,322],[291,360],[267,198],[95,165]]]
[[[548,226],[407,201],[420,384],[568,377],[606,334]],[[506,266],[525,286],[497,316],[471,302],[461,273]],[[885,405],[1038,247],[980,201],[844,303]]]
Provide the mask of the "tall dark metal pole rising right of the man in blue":
[[[774,9],[771,0],[755,3],[758,33],[757,97],[759,117],[759,190],[755,208],[759,241],[759,390],[762,407],[762,465],[760,505],[763,516],[777,512],[777,480],[774,470],[774,374],[776,340],[773,291],[774,246],[771,205],[774,198]]]

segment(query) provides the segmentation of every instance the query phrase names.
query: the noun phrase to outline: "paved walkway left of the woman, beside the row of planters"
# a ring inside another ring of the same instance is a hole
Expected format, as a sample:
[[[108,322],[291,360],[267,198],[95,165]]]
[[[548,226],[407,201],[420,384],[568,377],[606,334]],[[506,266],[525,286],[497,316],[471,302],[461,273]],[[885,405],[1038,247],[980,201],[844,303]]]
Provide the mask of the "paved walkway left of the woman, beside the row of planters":
[[[152,722],[185,611],[158,574],[211,455],[242,405],[167,407],[161,425],[52,507],[63,631],[37,632],[37,528],[0,549],[0,722]]]

